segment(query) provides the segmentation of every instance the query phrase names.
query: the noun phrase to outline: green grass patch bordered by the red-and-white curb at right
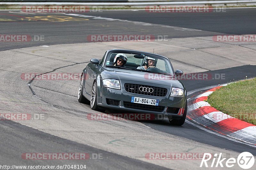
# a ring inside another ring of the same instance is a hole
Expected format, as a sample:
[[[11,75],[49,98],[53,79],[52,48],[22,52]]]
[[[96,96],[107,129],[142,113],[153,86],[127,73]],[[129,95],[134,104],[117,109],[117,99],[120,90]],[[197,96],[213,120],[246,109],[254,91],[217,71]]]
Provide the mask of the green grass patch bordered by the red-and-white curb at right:
[[[208,96],[217,110],[256,125],[256,78],[229,84]]]

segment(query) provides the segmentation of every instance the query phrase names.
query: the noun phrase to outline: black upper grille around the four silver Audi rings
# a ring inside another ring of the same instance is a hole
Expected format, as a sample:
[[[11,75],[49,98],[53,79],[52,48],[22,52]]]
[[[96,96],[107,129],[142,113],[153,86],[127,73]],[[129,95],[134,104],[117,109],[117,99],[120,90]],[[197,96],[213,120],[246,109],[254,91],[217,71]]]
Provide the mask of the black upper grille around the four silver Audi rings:
[[[139,85],[139,84],[132,84],[132,83],[125,83],[124,87],[126,92],[136,93],[136,94],[144,94],[144,95],[158,96],[158,97],[164,97],[167,94],[167,89],[163,87],[154,87],[150,85]],[[140,91],[142,90],[142,88],[140,87],[152,88],[153,92]]]

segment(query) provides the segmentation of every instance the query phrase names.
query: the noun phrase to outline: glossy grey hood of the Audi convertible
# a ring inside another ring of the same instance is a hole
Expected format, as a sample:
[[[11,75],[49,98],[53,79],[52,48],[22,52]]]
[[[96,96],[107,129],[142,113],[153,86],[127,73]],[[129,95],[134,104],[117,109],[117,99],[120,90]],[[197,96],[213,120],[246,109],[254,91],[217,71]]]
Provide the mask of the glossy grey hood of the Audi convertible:
[[[178,78],[164,74],[108,68],[106,71],[102,72],[101,77],[102,79],[113,78],[119,80],[136,81],[146,84],[166,85],[184,89],[183,83]]]

